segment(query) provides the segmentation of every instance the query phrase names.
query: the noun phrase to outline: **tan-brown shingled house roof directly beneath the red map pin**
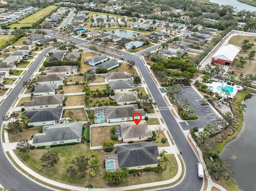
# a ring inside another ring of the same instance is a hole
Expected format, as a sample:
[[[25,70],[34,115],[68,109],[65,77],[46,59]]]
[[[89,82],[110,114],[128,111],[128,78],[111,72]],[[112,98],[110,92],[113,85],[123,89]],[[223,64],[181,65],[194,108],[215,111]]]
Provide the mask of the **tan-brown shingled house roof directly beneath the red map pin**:
[[[120,128],[122,130],[122,138],[137,138],[137,137],[148,137],[153,136],[152,131],[148,130],[148,125],[146,121],[141,121],[136,125],[133,121],[120,123]]]

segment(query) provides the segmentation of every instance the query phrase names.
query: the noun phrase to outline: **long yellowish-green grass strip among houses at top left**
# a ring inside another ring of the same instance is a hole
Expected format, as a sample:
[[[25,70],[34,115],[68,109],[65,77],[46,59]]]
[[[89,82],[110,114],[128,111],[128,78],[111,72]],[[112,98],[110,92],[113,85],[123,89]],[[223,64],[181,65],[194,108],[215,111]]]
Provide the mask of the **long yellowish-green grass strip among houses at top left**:
[[[40,18],[43,18],[47,14],[49,14],[52,10],[57,8],[57,6],[50,5],[46,8],[43,8],[42,10],[38,11],[37,13],[34,13],[15,24],[11,24],[9,27],[11,29],[25,27],[25,26],[31,26],[33,23],[37,22]]]

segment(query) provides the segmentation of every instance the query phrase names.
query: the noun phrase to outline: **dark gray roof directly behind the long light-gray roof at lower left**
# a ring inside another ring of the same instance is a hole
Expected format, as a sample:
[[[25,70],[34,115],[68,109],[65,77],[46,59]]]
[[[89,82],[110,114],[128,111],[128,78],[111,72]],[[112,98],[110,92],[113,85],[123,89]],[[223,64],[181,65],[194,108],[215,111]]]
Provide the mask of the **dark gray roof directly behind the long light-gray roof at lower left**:
[[[63,107],[50,108],[50,109],[39,109],[39,110],[28,110],[24,111],[22,115],[26,114],[26,116],[30,119],[30,123],[32,122],[41,122],[41,121],[53,121],[60,120],[62,117]]]

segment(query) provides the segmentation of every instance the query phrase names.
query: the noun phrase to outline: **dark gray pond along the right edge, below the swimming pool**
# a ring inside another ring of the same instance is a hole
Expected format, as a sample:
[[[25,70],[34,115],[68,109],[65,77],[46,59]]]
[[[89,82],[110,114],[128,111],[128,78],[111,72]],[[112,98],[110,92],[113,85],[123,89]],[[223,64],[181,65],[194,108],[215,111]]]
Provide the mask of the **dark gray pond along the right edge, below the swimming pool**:
[[[243,128],[238,136],[228,142],[220,154],[220,158],[230,161],[235,181],[242,191],[256,190],[256,95],[248,100],[244,112]],[[236,159],[231,159],[236,156]]]

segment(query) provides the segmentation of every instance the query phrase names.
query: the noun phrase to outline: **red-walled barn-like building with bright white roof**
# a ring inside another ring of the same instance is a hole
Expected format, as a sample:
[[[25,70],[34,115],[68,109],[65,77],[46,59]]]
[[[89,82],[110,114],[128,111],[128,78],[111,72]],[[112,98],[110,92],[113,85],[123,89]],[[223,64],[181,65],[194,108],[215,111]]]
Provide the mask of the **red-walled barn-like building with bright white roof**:
[[[232,66],[240,49],[234,45],[221,47],[212,57],[212,63]]]

